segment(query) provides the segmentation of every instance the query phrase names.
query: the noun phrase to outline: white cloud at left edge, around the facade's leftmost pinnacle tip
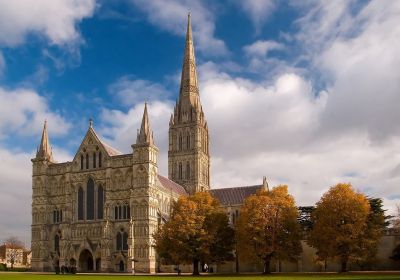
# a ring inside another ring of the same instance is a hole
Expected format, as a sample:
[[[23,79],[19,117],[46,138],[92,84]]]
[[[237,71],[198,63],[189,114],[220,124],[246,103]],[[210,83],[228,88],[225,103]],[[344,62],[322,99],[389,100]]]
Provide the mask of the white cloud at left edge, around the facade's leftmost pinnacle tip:
[[[65,135],[71,128],[60,114],[50,110],[44,97],[31,89],[0,87],[0,100],[0,138],[37,135],[45,119],[52,135]]]

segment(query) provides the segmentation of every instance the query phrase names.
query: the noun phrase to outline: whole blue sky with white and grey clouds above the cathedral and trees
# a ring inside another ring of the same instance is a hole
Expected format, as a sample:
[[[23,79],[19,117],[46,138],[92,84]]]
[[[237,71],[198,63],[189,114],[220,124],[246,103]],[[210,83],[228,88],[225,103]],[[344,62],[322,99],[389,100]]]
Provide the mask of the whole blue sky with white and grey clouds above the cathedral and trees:
[[[0,240],[29,245],[30,159],[45,119],[59,162],[91,117],[129,153],[147,100],[167,174],[188,10],[213,188],[265,175],[311,205],[351,182],[393,211],[400,1],[0,0]]]

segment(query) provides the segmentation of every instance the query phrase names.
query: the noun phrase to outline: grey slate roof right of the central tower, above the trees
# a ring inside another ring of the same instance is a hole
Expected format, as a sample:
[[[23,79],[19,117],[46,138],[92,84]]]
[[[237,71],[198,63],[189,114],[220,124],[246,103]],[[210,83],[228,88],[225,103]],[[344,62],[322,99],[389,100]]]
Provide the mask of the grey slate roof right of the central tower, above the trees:
[[[218,199],[222,205],[237,205],[242,204],[246,197],[255,194],[261,188],[262,185],[222,188],[210,190],[210,193]]]

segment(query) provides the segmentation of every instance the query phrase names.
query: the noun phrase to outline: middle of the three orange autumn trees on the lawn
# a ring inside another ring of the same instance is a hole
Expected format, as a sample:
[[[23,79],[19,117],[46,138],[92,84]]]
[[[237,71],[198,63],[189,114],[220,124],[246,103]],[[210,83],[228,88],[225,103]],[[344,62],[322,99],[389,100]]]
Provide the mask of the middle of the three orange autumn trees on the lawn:
[[[240,255],[261,259],[270,273],[273,258],[294,261],[301,253],[298,210],[287,186],[260,190],[243,203],[237,220]]]

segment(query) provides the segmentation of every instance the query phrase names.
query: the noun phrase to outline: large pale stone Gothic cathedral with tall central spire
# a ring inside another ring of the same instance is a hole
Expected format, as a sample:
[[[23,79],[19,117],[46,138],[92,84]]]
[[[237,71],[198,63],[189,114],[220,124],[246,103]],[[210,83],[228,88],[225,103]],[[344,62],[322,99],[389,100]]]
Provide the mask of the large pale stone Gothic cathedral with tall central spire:
[[[264,178],[256,186],[210,189],[210,140],[200,102],[190,14],[179,97],[169,121],[168,178],[158,173],[158,148],[147,110],[145,104],[131,153],[103,142],[90,121],[74,159],[63,163],[53,159],[45,122],[32,159],[32,270],[73,267],[78,272],[155,273],[161,264],[152,236],[168,219],[172,201],[210,191],[234,224],[244,199],[268,187]],[[381,269],[393,269],[387,259],[398,239],[397,235],[382,239]],[[277,262],[276,271],[318,271],[315,250],[305,241],[302,245],[298,261]],[[241,263],[240,271],[261,271],[260,265]],[[336,270],[336,264],[328,270]],[[239,271],[239,264],[220,264],[214,271]]]

